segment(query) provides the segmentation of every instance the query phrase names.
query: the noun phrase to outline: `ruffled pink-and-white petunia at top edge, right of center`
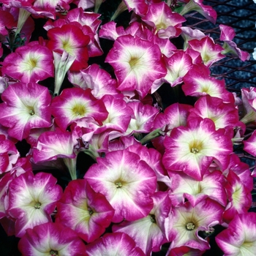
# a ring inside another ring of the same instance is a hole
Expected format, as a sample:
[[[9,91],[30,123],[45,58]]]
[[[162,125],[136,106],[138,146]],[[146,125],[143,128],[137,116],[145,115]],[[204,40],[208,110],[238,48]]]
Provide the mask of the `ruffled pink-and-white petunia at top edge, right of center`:
[[[179,28],[186,21],[177,12],[172,12],[164,1],[149,5],[148,12],[142,20],[155,30],[158,37],[167,39],[178,37],[181,34]]]

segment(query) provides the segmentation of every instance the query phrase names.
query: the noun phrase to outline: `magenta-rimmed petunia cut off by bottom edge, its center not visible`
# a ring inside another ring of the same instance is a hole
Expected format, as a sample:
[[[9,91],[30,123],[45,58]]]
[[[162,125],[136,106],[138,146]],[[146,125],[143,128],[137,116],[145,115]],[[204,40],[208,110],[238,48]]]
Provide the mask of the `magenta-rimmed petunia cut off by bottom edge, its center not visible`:
[[[86,246],[89,256],[146,256],[126,233],[106,233]]]

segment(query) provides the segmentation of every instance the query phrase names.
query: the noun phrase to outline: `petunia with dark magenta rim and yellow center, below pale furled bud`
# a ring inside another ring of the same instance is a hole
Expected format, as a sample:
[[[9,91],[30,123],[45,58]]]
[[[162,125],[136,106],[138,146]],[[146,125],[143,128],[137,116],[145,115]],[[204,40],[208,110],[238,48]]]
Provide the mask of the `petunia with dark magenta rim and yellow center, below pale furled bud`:
[[[52,114],[56,124],[62,130],[75,121],[101,122],[108,117],[108,111],[100,99],[95,99],[91,89],[64,89],[51,103]]]

